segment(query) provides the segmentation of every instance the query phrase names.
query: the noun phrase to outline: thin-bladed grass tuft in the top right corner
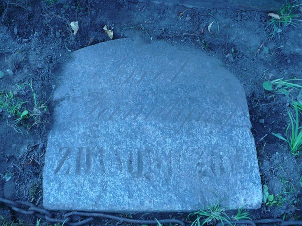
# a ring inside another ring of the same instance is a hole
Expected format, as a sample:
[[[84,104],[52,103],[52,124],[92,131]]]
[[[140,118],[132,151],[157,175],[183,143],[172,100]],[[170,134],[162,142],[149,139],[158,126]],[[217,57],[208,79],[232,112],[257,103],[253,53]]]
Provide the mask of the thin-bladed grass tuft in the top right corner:
[[[296,27],[297,22],[301,22],[298,20],[299,17],[298,9],[301,4],[296,4],[297,1],[287,2],[282,8],[277,12],[277,15],[280,19],[272,17],[268,26],[273,28],[273,31],[269,34],[269,36],[274,36],[276,33],[279,35],[279,30],[281,27],[286,27],[288,25]]]

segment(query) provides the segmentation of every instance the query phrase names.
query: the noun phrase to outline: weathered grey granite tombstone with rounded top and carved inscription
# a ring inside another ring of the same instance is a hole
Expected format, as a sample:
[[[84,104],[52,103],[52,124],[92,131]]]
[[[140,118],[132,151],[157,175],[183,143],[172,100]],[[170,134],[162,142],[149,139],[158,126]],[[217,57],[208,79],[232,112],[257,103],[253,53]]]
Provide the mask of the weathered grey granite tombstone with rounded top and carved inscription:
[[[119,39],[73,52],[59,78],[45,208],[260,207],[245,92],[219,60],[200,49]]]

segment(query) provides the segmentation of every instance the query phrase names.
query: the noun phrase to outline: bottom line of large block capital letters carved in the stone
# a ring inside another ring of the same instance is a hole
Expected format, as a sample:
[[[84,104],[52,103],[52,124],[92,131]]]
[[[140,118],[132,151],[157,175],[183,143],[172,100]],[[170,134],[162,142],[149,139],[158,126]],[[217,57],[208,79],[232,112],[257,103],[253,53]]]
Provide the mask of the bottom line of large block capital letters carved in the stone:
[[[222,159],[219,153],[204,156],[200,148],[187,148],[185,152],[192,153],[194,159],[188,159],[195,164],[197,176],[220,177],[233,172],[229,158]],[[156,175],[162,175],[167,181],[173,173],[178,172],[178,163],[184,161],[184,155],[172,155],[173,150],[159,152],[146,149],[133,149],[128,152],[127,159],[121,159],[118,150],[105,151],[102,147],[61,147],[54,174],[77,176],[104,175],[122,173],[133,178],[156,180]],[[198,159],[197,162],[195,160]],[[227,163],[227,164],[225,164]],[[189,164],[189,162],[188,162]],[[194,164],[192,167],[194,167]],[[174,167],[173,167],[174,166]],[[228,167],[228,169],[225,168]]]

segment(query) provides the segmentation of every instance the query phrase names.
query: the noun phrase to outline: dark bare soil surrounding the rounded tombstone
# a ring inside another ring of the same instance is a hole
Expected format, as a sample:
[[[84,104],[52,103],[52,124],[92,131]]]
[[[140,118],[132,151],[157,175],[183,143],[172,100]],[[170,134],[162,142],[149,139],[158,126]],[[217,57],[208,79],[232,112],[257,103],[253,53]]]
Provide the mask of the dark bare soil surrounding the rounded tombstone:
[[[272,31],[270,18],[261,12],[127,0],[50,2],[0,1],[0,70],[4,72],[0,95],[12,90],[16,100],[25,102],[22,106],[36,113],[19,123],[20,114],[16,121],[6,109],[0,109],[0,197],[42,206],[44,154],[54,105],[51,94],[58,82],[54,74],[68,60],[69,52],[110,41],[103,30],[107,25],[114,39],[141,36],[146,42],[166,40],[194,46],[221,59],[245,88],[262,183],[278,201],[251,211],[253,218],[302,220],[301,154],[293,156],[288,145],[272,135],[284,136],[287,111],[292,111],[289,99],[262,87],[266,80],[302,78],[302,23],[282,26],[272,37],[268,35]],[[69,25],[72,21],[79,22],[76,35]],[[1,206],[0,215],[10,221],[21,220],[22,225],[36,221]],[[155,216],[145,214],[144,218]],[[187,215],[167,213],[158,218],[162,216],[184,219]],[[99,220],[100,225],[116,225],[115,221]],[[42,220],[41,224],[47,222]]]

